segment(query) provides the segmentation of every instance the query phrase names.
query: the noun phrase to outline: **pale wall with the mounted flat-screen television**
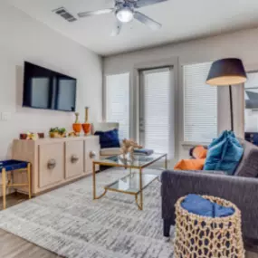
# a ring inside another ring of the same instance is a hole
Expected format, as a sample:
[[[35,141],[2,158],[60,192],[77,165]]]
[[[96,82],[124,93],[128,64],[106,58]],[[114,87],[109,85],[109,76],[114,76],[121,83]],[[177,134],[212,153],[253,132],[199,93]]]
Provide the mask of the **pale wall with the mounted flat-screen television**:
[[[0,4],[0,158],[10,156],[19,133],[48,132],[51,127],[72,130],[74,114],[22,108],[24,61],[78,79],[77,110],[84,119],[90,106],[91,121],[101,119],[102,59],[78,43],[54,32],[12,6]]]

